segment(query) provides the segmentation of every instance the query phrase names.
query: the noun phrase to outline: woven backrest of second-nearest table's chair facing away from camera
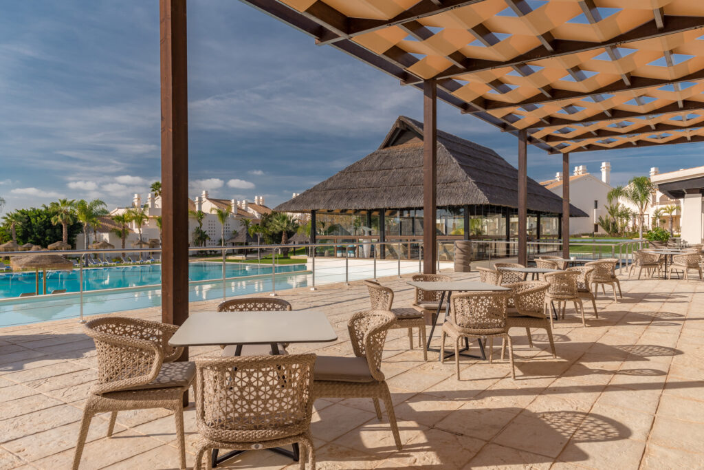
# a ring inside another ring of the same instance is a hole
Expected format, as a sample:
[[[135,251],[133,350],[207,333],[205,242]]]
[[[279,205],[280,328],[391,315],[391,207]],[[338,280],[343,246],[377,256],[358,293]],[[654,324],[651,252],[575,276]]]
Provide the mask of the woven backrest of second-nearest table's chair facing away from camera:
[[[450,318],[466,333],[505,332],[506,302],[510,291],[460,292],[452,296]]]

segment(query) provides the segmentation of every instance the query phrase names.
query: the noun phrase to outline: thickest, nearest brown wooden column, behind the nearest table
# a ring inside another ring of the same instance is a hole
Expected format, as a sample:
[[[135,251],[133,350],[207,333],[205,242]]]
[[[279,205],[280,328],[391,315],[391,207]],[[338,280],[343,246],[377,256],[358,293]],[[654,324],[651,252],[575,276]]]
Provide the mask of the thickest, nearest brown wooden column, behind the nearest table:
[[[188,87],[186,0],[160,0],[161,319],[188,317]],[[187,360],[188,350],[182,360]]]

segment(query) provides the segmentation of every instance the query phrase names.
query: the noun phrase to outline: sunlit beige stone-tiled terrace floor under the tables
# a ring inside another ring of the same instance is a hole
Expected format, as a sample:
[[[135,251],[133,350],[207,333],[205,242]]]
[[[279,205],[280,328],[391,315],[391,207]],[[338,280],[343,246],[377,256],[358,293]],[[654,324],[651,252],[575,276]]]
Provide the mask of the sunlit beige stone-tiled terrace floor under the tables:
[[[397,307],[410,303],[406,280],[383,282],[396,290]],[[598,297],[599,319],[587,309],[588,328],[570,310],[555,324],[558,359],[546,352],[540,331],[530,349],[524,331],[512,330],[515,381],[508,362],[466,357],[458,381],[452,362],[439,364],[436,353],[422,361],[418,350],[408,350],[405,333],[392,331],[382,369],[403,450],[394,447],[389,424],[377,421],[370,400],[318,400],[312,424],[318,468],[704,468],[704,286],[622,277],[622,287],[618,303]],[[346,319],[367,306],[361,283],[287,290],[281,297],[294,309],[325,311],[339,335],[335,343],[292,351],[351,354]],[[159,316],[158,309],[129,314]],[[0,329],[0,469],[70,468],[95,365],[92,340],[75,320]],[[192,464],[192,401],[185,414]],[[82,469],[175,468],[168,412],[122,412],[111,439],[106,427],[106,416],[94,419]],[[264,450],[222,466],[284,467],[297,468]]]

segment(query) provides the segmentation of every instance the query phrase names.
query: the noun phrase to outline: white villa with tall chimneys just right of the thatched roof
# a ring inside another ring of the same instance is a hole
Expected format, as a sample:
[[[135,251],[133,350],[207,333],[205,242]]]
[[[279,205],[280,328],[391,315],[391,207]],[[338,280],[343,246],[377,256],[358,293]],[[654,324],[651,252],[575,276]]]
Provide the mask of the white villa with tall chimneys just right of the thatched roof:
[[[599,216],[605,216],[605,205],[608,204],[606,195],[612,187],[610,185],[611,165],[608,161],[601,163],[601,179],[586,171],[586,166],[574,167],[570,175],[570,204],[590,214],[589,217],[570,217],[570,235],[579,233],[603,233],[599,226]],[[564,175],[558,172],[555,178],[542,181],[540,184],[562,197],[562,183]]]

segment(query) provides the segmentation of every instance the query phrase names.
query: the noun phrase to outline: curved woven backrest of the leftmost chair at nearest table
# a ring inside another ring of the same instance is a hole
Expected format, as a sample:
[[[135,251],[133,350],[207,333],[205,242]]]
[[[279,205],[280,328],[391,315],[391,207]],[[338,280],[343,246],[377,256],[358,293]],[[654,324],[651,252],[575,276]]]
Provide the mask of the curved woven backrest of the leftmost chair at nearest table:
[[[121,316],[85,323],[84,333],[93,338],[98,359],[98,383],[91,391],[115,392],[153,381],[163,362],[173,361],[183,352],[182,347],[168,344],[177,329],[160,321]]]

